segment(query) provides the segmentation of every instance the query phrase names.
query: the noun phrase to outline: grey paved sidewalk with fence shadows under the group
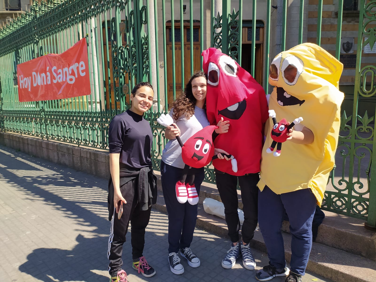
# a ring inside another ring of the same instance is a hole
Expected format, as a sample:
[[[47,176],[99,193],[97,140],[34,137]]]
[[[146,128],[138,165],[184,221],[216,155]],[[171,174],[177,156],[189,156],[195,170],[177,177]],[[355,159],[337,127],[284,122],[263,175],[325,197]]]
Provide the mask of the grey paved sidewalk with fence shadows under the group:
[[[108,282],[110,222],[107,180],[0,146],[0,281]],[[229,240],[196,229],[191,249],[201,266],[171,273],[167,261],[167,215],[152,210],[144,255],[156,269],[146,278],[131,268],[130,241],[124,244],[124,270],[133,281],[257,281],[255,271],[238,264],[221,267]],[[130,235],[127,235],[130,238]],[[268,263],[254,251],[257,267]],[[283,282],[284,278],[273,281]],[[328,281],[306,274],[304,282]]]

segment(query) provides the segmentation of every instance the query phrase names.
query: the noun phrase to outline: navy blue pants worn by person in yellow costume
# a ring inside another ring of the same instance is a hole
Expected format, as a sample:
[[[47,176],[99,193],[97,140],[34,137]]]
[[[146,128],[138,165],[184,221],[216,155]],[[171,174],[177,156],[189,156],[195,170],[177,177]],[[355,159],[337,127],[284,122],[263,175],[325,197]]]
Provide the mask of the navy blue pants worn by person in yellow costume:
[[[309,189],[276,194],[265,186],[258,194],[258,222],[268,251],[270,264],[286,266],[281,227],[285,211],[290,219],[290,270],[304,275],[312,247],[312,219],[317,200]]]

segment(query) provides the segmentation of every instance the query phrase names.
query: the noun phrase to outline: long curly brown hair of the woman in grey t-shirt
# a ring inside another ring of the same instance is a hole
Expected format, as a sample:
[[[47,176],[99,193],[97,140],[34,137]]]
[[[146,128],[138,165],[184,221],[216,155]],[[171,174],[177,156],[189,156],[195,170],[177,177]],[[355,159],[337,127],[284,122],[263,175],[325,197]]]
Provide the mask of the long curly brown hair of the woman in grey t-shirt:
[[[185,114],[187,120],[193,116],[194,107],[196,106],[196,98],[192,93],[192,80],[196,77],[205,77],[205,79],[208,79],[206,74],[202,71],[197,71],[193,74],[182,94],[180,94],[179,98],[177,98],[172,105],[172,108],[174,108],[172,114],[174,120],[177,120],[182,114]]]

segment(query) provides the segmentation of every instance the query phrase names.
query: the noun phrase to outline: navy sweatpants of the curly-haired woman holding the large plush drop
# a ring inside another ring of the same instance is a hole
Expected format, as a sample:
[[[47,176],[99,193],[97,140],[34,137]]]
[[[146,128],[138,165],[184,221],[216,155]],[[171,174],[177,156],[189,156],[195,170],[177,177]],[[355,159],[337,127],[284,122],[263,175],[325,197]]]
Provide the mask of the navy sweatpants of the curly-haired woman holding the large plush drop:
[[[196,171],[194,185],[197,193],[200,194],[204,168],[196,169]],[[162,190],[168,213],[168,253],[178,253],[180,248],[189,248],[196,226],[198,204],[191,205],[188,202],[182,204],[176,199],[175,185],[182,174],[182,168],[161,162]]]

